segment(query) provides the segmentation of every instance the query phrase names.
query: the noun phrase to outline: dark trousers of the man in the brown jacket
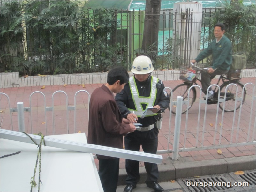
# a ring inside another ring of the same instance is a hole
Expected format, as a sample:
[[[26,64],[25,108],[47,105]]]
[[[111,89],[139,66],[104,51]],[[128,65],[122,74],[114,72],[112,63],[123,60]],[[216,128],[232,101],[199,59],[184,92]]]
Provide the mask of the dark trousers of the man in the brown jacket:
[[[104,191],[116,191],[119,175],[119,158],[99,159],[99,176]]]

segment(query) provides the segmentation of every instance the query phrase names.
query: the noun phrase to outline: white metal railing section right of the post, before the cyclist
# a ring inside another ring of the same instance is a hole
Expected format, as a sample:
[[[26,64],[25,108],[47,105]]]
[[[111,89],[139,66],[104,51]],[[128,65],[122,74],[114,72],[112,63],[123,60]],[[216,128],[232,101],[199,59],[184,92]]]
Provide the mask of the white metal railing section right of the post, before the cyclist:
[[[232,85],[232,84],[229,84],[228,86],[230,86],[230,85]],[[235,85],[235,84],[233,84],[233,85]],[[192,133],[192,131],[189,131],[189,129],[191,129],[192,127],[194,128],[194,125],[190,124],[190,127],[188,127],[188,120],[189,120],[188,117],[191,117],[191,116],[189,115],[189,111],[187,110],[186,120],[185,120],[185,122],[186,122],[185,123],[185,129],[184,129],[184,132],[183,132],[184,141],[183,142],[175,141],[175,140],[180,138],[180,134],[178,134],[178,133],[176,134],[176,131],[174,132],[174,145],[173,145],[174,155],[173,155],[173,160],[177,160],[177,153],[178,152],[198,151],[198,150],[217,149],[217,148],[226,148],[226,147],[237,147],[237,146],[245,146],[245,145],[255,144],[255,107],[253,107],[253,106],[255,106],[255,94],[254,94],[255,86],[252,83],[247,83],[247,84],[244,85],[241,98],[237,97],[237,90],[238,89],[236,89],[236,98],[235,98],[235,101],[234,101],[234,109],[237,106],[236,105],[237,101],[242,101],[243,95],[245,93],[245,87],[249,86],[249,85],[253,86],[252,95],[248,95],[249,93],[247,92],[247,94],[246,94],[247,95],[246,103],[244,103],[244,104],[243,104],[243,102],[240,103],[240,108],[237,110],[239,112],[239,114],[237,115],[237,113],[236,113],[237,111],[234,110],[234,112],[232,112],[233,117],[230,116],[230,115],[225,116],[225,114],[229,114],[229,113],[224,112],[226,93],[227,93],[227,90],[228,90],[227,89],[228,86],[227,86],[227,88],[225,89],[225,97],[222,100],[221,99],[218,100],[217,108],[216,108],[216,115],[212,116],[212,117],[215,117],[215,125],[211,125],[211,126],[214,127],[214,129],[212,130],[212,132],[214,132],[213,137],[212,137],[213,141],[212,142],[207,141],[208,144],[204,144],[205,133],[207,132],[207,130],[206,130],[206,127],[207,127],[206,126],[206,121],[207,121],[207,118],[209,118],[209,116],[207,116],[207,107],[208,107],[207,100],[201,100],[201,99],[199,100],[199,107],[198,107],[198,112],[197,112],[198,113],[198,123],[197,123],[197,127],[195,128],[196,131],[193,133],[193,134],[196,134],[196,136],[194,137],[195,145],[190,146],[190,147],[186,147],[187,143],[190,143],[190,144],[192,143],[192,142],[188,142],[188,140],[190,138],[188,138],[187,135]],[[211,85],[211,86],[217,86],[217,85]],[[199,86],[198,85],[193,85],[192,87],[190,87],[190,89],[192,89],[193,87],[199,87]],[[188,98],[189,98],[189,94],[190,94],[190,89],[188,91]],[[218,89],[219,89],[219,87],[218,87]],[[201,94],[201,90],[200,90],[200,94]],[[219,96],[220,96],[220,93],[219,93]],[[219,106],[220,102],[224,102],[224,104],[223,104],[223,111],[221,113],[222,114],[221,119],[220,119],[221,121],[219,122],[218,115],[220,113],[219,113],[219,107],[218,106]],[[187,105],[187,109],[188,109],[188,107],[189,107],[188,100],[187,101],[186,100],[182,101],[182,99],[181,100],[177,99],[177,105],[176,106],[178,108],[181,108],[181,105],[184,105],[184,103]],[[205,110],[204,110],[203,125],[200,127],[200,122],[201,122],[200,121],[201,120],[200,112],[202,110],[201,104],[203,104],[203,103],[205,104]],[[248,103],[251,104],[251,105],[248,105]],[[250,110],[250,118],[249,118],[249,121],[248,121],[247,133],[244,131],[246,128],[245,127],[243,128],[242,125],[240,124],[240,120],[242,118],[242,110]],[[176,129],[176,124],[178,124],[178,122],[181,122],[181,115],[180,114],[181,114],[181,111],[176,109],[176,117],[177,118],[175,119],[175,129]],[[226,131],[225,129],[223,129],[223,124],[224,124],[225,121],[230,121],[230,119],[227,118],[227,117],[232,117],[231,133],[230,133],[230,137],[223,137],[222,132]],[[254,121],[254,123],[253,123],[253,121]],[[253,130],[251,132],[252,124],[254,124],[254,127],[253,127]],[[220,125],[219,130],[218,130],[218,125]],[[202,131],[200,131],[200,128],[202,128]],[[199,139],[199,133],[200,132],[201,132],[201,138]],[[241,139],[241,141],[238,141],[239,132],[243,132],[244,137],[246,137],[246,139],[244,138],[244,139]],[[218,135],[218,137],[217,137],[217,135]],[[233,138],[236,139],[235,142],[233,142]],[[223,140],[224,140],[224,142],[223,142]],[[201,143],[200,145],[198,145],[199,142]],[[179,148],[177,150],[177,146],[176,146],[177,143],[182,144],[183,147]]]

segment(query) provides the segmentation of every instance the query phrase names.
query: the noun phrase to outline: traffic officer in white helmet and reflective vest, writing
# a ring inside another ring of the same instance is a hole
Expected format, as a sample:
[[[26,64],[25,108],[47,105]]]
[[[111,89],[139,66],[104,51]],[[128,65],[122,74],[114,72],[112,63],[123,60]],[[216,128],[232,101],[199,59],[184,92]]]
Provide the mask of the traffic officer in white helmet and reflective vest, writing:
[[[136,131],[124,137],[125,149],[139,151],[140,146],[146,153],[156,154],[158,145],[158,132],[161,127],[157,127],[157,120],[161,118],[161,113],[169,107],[170,98],[166,92],[163,82],[151,76],[154,70],[150,58],[138,56],[132,64],[129,84],[124,86],[124,90],[116,95],[118,108],[124,118],[132,123],[142,125]],[[153,108],[153,109],[147,109]],[[146,113],[145,113],[145,110]],[[128,174],[124,191],[132,191],[140,179],[139,161],[125,160],[125,169]],[[155,163],[145,162],[147,171],[147,187],[155,191],[163,191],[157,182],[159,177],[158,167]]]

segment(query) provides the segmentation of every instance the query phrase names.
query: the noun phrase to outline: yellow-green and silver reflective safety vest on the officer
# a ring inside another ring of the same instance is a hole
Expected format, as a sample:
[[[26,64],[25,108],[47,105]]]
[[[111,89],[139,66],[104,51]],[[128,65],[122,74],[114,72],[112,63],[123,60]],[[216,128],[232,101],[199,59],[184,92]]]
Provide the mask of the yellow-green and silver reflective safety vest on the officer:
[[[128,110],[131,113],[136,114],[137,117],[141,117],[141,115],[145,111],[142,108],[141,104],[147,104],[146,109],[147,109],[147,107],[152,107],[154,105],[155,100],[156,100],[156,93],[157,93],[157,89],[156,89],[156,84],[157,83],[158,83],[158,78],[152,77],[151,78],[150,95],[149,95],[149,97],[144,97],[144,96],[139,96],[138,88],[137,88],[136,83],[135,83],[135,78],[134,77],[129,78],[129,85],[130,85],[130,90],[131,90],[131,93],[132,93],[132,100],[133,100],[133,103],[134,103],[135,108],[136,108],[135,110],[128,108]],[[154,116],[154,115],[157,115],[157,113],[153,113],[151,110],[148,110],[145,117]]]

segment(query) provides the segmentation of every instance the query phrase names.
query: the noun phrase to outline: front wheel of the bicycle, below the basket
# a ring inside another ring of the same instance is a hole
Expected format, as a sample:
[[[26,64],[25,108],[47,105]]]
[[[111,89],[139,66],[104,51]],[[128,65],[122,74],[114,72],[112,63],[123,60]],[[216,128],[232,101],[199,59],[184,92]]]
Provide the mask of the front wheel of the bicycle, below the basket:
[[[185,83],[176,86],[172,90],[172,94],[173,94],[172,101],[177,101],[177,96],[181,96],[181,97],[183,97],[183,101],[184,100],[189,101],[188,109],[190,109],[190,107],[193,105],[194,101],[196,100],[196,89],[194,87],[190,90],[189,98],[188,98],[188,90],[189,90],[190,87],[191,87],[191,85],[185,84]],[[171,107],[171,112],[173,114],[176,113],[176,106],[175,105],[173,105]],[[186,112],[187,112],[187,105],[182,105],[182,112],[181,113],[184,114]]]

